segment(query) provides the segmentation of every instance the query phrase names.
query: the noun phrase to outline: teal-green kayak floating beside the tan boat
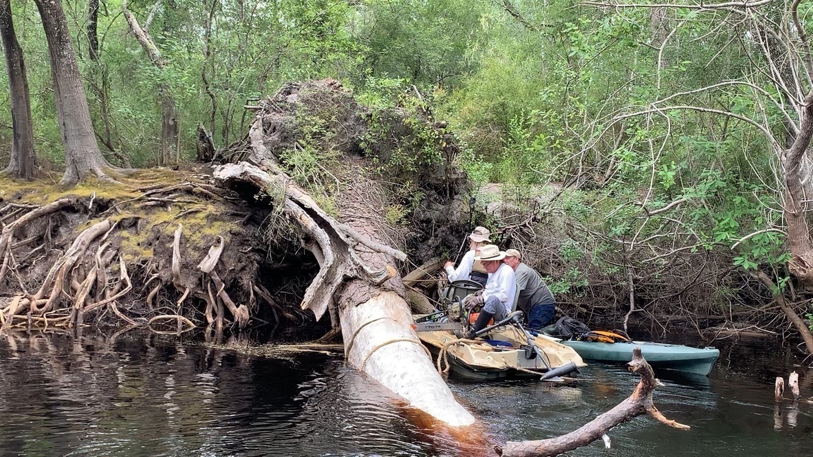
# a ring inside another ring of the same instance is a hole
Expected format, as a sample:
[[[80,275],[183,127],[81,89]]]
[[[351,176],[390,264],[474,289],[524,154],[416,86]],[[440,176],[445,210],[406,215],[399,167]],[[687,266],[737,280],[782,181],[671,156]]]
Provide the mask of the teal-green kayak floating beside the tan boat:
[[[689,347],[647,341],[598,343],[562,340],[560,343],[572,347],[584,360],[602,362],[628,362],[633,359],[633,347],[640,346],[641,354],[655,369],[674,369],[703,376],[708,375],[715,360],[720,357],[720,350],[714,347]]]

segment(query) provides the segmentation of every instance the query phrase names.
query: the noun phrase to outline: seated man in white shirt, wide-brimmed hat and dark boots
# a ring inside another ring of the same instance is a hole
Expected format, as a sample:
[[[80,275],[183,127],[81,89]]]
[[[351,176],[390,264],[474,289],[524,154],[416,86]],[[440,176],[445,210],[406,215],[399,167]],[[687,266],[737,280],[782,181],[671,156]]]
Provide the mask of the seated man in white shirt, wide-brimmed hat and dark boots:
[[[500,251],[494,244],[486,244],[480,248],[480,255],[475,257],[482,262],[485,270],[489,272],[489,280],[485,283],[485,290],[480,295],[468,295],[465,304],[473,307],[482,304],[480,316],[474,322],[472,333],[467,334],[467,338],[472,338],[478,330],[485,329],[493,317],[494,321],[501,321],[511,313],[511,306],[514,304],[516,293],[516,282],[514,270],[510,265],[502,262],[506,257],[504,251]]]

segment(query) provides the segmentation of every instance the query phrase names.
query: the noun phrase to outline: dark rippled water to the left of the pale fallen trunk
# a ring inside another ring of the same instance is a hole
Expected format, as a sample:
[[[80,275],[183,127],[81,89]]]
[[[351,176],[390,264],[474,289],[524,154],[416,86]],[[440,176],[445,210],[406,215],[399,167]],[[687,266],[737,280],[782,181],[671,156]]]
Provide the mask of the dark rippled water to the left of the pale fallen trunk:
[[[0,380],[2,455],[460,455],[389,390],[313,352],[14,334]]]

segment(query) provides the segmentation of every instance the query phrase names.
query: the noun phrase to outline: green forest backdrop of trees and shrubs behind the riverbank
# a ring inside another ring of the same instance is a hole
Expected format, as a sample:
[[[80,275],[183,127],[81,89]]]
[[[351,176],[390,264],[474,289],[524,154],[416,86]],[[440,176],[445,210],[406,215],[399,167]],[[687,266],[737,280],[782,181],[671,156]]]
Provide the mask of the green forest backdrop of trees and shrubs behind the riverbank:
[[[565,313],[664,331],[790,331],[813,351],[809,3],[62,6],[111,164],[194,162],[201,128],[228,150],[253,120],[244,106],[290,80],[333,78],[373,109],[431,108],[448,122],[456,157],[404,148],[386,165],[466,170],[475,222],[526,254]],[[39,171],[63,170],[41,16],[30,0],[11,11]],[[10,104],[0,96],[3,165]],[[281,158],[303,181],[321,160],[310,148]],[[416,189],[401,185],[404,196]],[[388,220],[406,224],[415,200]]]

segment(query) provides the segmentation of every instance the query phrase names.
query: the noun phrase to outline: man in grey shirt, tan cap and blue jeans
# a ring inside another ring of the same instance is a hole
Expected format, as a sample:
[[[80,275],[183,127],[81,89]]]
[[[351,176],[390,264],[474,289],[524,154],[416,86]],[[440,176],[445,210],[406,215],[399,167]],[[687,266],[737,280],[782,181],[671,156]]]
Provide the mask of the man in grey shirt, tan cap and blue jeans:
[[[515,272],[516,290],[520,294],[517,308],[525,313],[528,328],[539,330],[553,321],[556,300],[540,274],[522,262],[522,256],[516,249],[506,251],[505,263]]]

